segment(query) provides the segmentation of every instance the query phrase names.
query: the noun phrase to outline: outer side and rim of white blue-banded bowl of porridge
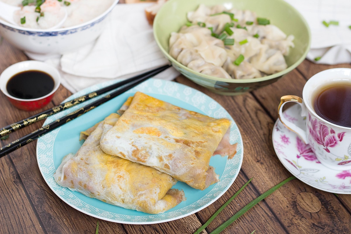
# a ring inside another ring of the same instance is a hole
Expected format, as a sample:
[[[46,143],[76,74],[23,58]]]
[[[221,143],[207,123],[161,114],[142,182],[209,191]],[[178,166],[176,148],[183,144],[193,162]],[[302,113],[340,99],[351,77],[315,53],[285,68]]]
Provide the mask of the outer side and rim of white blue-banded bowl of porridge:
[[[114,0],[104,13],[94,19],[67,28],[31,29],[10,24],[0,18],[0,35],[13,46],[24,51],[29,58],[44,60],[72,51],[97,39],[104,28],[106,16],[118,1]]]

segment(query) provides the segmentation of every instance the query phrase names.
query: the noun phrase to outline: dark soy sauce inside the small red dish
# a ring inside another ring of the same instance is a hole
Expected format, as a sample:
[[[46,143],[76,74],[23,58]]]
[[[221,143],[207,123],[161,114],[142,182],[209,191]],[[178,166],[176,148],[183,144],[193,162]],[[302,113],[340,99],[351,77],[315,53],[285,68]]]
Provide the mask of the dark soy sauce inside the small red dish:
[[[7,92],[20,99],[35,99],[45,96],[54,89],[51,75],[37,70],[29,70],[13,75],[6,84]]]

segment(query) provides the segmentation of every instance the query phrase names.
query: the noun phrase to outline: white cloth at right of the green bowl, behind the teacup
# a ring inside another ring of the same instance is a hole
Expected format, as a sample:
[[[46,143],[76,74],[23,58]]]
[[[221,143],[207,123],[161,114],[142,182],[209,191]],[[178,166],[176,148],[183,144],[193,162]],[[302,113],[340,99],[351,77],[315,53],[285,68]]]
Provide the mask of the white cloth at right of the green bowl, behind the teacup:
[[[307,59],[330,65],[351,62],[350,0],[285,1],[301,13],[310,26],[312,38]],[[323,21],[337,21],[339,25],[326,27]]]

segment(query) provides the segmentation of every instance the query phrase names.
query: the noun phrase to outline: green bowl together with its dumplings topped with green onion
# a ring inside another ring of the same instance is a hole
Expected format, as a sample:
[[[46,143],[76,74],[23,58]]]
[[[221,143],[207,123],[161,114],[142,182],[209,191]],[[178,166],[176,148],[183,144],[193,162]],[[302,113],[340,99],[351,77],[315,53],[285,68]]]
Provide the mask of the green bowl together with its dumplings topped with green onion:
[[[276,82],[311,44],[306,20],[284,0],[169,0],[153,30],[174,68],[221,95]]]

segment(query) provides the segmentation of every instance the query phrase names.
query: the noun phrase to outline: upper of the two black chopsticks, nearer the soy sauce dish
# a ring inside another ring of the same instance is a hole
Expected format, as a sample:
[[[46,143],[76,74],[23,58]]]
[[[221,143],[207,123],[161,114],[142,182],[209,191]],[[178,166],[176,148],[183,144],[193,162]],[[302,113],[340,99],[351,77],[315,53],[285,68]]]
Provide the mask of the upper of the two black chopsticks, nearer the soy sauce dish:
[[[171,65],[165,65],[165,66],[153,69],[151,71],[145,72],[143,74],[133,76],[132,78],[128,78],[126,80],[122,80],[120,82],[114,83],[114,84],[112,84],[110,86],[101,88],[101,89],[99,89],[97,91],[88,93],[86,95],[80,96],[79,98],[75,98],[73,100],[70,100],[70,101],[67,101],[65,103],[62,103],[62,104],[60,104],[58,106],[52,107],[51,109],[47,109],[47,110],[45,110],[43,112],[40,112],[40,113],[35,114],[35,115],[32,115],[32,116],[30,116],[30,117],[28,117],[26,119],[20,120],[20,121],[15,122],[15,123],[12,123],[10,125],[7,125],[6,127],[0,128],[0,137],[9,135],[9,134],[21,129],[21,128],[29,126],[29,125],[31,125],[33,123],[36,123],[36,122],[40,121],[40,120],[44,120],[44,119],[46,119],[47,117],[49,117],[49,116],[51,116],[53,114],[59,113],[59,112],[65,110],[65,109],[68,109],[68,108],[76,106],[76,105],[78,105],[78,104],[80,104],[82,102],[85,102],[87,100],[95,98],[95,97],[97,97],[97,96],[99,96],[101,94],[104,94],[106,92],[112,91],[113,89],[116,89],[118,87],[126,85],[127,83],[133,82],[134,80],[139,79],[141,77],[144,77],[145,75],[148,75],[148,74],[155,75],[155,74],[167,69],[170,66]]]

